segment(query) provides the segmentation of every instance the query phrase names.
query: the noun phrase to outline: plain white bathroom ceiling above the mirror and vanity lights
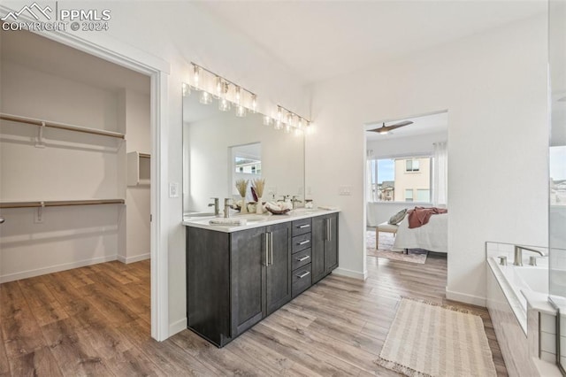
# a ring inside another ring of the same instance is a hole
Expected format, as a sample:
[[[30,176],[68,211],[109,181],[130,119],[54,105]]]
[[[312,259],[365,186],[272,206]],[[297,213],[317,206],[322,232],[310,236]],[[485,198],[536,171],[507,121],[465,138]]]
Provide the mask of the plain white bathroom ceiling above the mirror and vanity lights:
[[[204,12],[320,81],[546,12],[546,0],[202,1]]]

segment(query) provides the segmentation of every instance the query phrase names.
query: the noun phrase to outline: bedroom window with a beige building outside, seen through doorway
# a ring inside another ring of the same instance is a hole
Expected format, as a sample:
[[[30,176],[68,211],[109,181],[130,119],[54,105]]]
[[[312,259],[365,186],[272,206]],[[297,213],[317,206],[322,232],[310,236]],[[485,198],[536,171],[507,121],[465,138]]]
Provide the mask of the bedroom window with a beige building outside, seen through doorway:
[[[430,203],[431,172],[431,156],[370,159],[368,201]]]

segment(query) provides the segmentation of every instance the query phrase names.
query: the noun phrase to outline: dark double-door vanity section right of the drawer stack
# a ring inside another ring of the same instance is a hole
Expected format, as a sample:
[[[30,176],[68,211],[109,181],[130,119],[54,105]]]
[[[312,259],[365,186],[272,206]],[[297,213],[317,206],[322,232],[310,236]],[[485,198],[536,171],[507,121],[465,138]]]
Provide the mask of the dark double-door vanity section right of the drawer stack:
[[[338,214],[312,218],[312,283],[338,267]]]

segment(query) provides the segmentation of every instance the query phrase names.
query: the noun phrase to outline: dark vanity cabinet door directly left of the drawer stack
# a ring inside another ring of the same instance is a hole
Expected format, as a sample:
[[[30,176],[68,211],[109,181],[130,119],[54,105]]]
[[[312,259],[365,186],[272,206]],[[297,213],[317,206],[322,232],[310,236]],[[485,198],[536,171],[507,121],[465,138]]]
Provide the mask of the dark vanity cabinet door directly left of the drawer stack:
[[[267,315],[291,300],[291,223],[266,227],[268,265],[266,273]]]

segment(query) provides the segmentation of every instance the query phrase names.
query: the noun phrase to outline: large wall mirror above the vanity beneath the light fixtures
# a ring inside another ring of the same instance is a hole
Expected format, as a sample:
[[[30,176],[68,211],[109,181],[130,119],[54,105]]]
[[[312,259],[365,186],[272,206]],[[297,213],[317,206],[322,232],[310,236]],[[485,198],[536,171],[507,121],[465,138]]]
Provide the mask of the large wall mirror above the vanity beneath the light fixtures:
[[[240,200],[237,179],[265,180],[264,201],[304,199],[304,135],[264,126],[260,113],[236,117],[202,104],[202,91],[183,97],[183,214],[210,215],[211,198]],[[206,101],[205,101],[206,102]],[[247,200],[253,201],[251,193]]]

